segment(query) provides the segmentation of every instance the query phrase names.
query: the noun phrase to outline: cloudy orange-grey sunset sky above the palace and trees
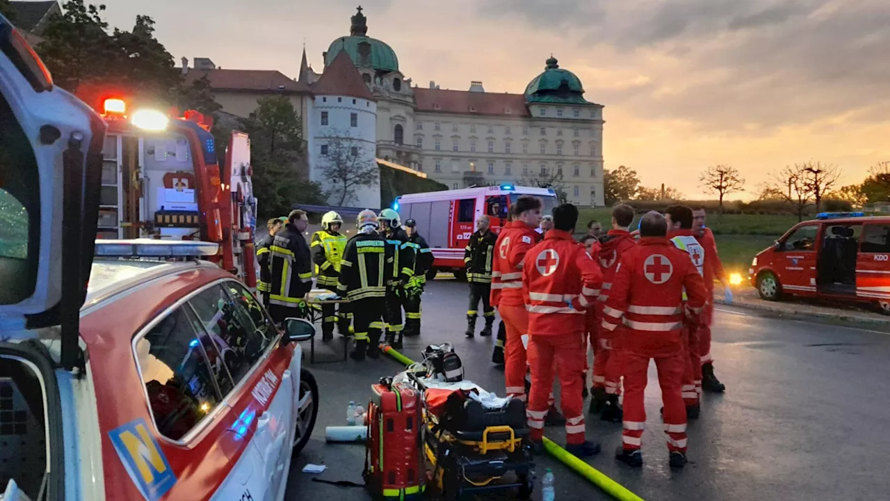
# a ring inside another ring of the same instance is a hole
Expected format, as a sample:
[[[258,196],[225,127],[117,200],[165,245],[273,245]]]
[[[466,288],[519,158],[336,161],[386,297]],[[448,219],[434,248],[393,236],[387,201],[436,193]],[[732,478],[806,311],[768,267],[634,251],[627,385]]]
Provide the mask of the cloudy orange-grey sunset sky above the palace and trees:
[[[418,86],[521,93],[550,53],[605,106],[605,167],[704,196],[699,172],[836,163],[844,184],[890,160],[886,0],[106,0],[112,26],[158,23],[173,53],[295,77],[322,67],[357,4]]]

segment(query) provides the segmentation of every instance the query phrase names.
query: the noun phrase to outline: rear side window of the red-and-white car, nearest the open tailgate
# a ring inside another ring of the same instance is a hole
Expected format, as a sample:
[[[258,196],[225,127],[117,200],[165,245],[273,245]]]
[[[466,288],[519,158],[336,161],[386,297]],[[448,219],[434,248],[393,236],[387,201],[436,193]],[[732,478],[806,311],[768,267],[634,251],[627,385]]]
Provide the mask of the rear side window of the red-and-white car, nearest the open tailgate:
[[[136,341],[136,359],[158,431],[182,439],[223,398],[183,308]]]

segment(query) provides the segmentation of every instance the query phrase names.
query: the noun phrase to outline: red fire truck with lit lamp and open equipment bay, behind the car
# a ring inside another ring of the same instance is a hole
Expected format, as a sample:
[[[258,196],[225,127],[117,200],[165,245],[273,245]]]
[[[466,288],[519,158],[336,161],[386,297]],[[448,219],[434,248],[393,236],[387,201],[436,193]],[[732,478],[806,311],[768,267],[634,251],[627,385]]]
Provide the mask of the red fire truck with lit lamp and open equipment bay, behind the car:
[[[108,134],[96,238],[218,243],[210,260],[255,290],[247,135],[233,132],[221,158],[210,134],[213,119],[198,111],[171,119],[155,110],[130,113],[123,100],[107,99],[102,118]]]

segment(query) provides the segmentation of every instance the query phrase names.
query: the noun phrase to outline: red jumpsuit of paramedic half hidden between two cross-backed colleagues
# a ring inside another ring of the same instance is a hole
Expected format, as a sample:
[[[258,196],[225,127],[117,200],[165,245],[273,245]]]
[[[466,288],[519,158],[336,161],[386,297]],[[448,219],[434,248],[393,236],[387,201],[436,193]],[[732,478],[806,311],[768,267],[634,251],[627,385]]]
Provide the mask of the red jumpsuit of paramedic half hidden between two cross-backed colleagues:
[[[634,237],[627,230],[610,230],[600,250],[599,263],[603,270],[603,287],[596,302],[596,316],[602,320],[605,301],[609,299],[615,269],[621,256],[636,245]],[[620,331],[620,329],[619,329]],[[594,349],[594,388],[604,388],[607,395],[621,394],[621,365],[615,341],[619,331],[599,330]]]

